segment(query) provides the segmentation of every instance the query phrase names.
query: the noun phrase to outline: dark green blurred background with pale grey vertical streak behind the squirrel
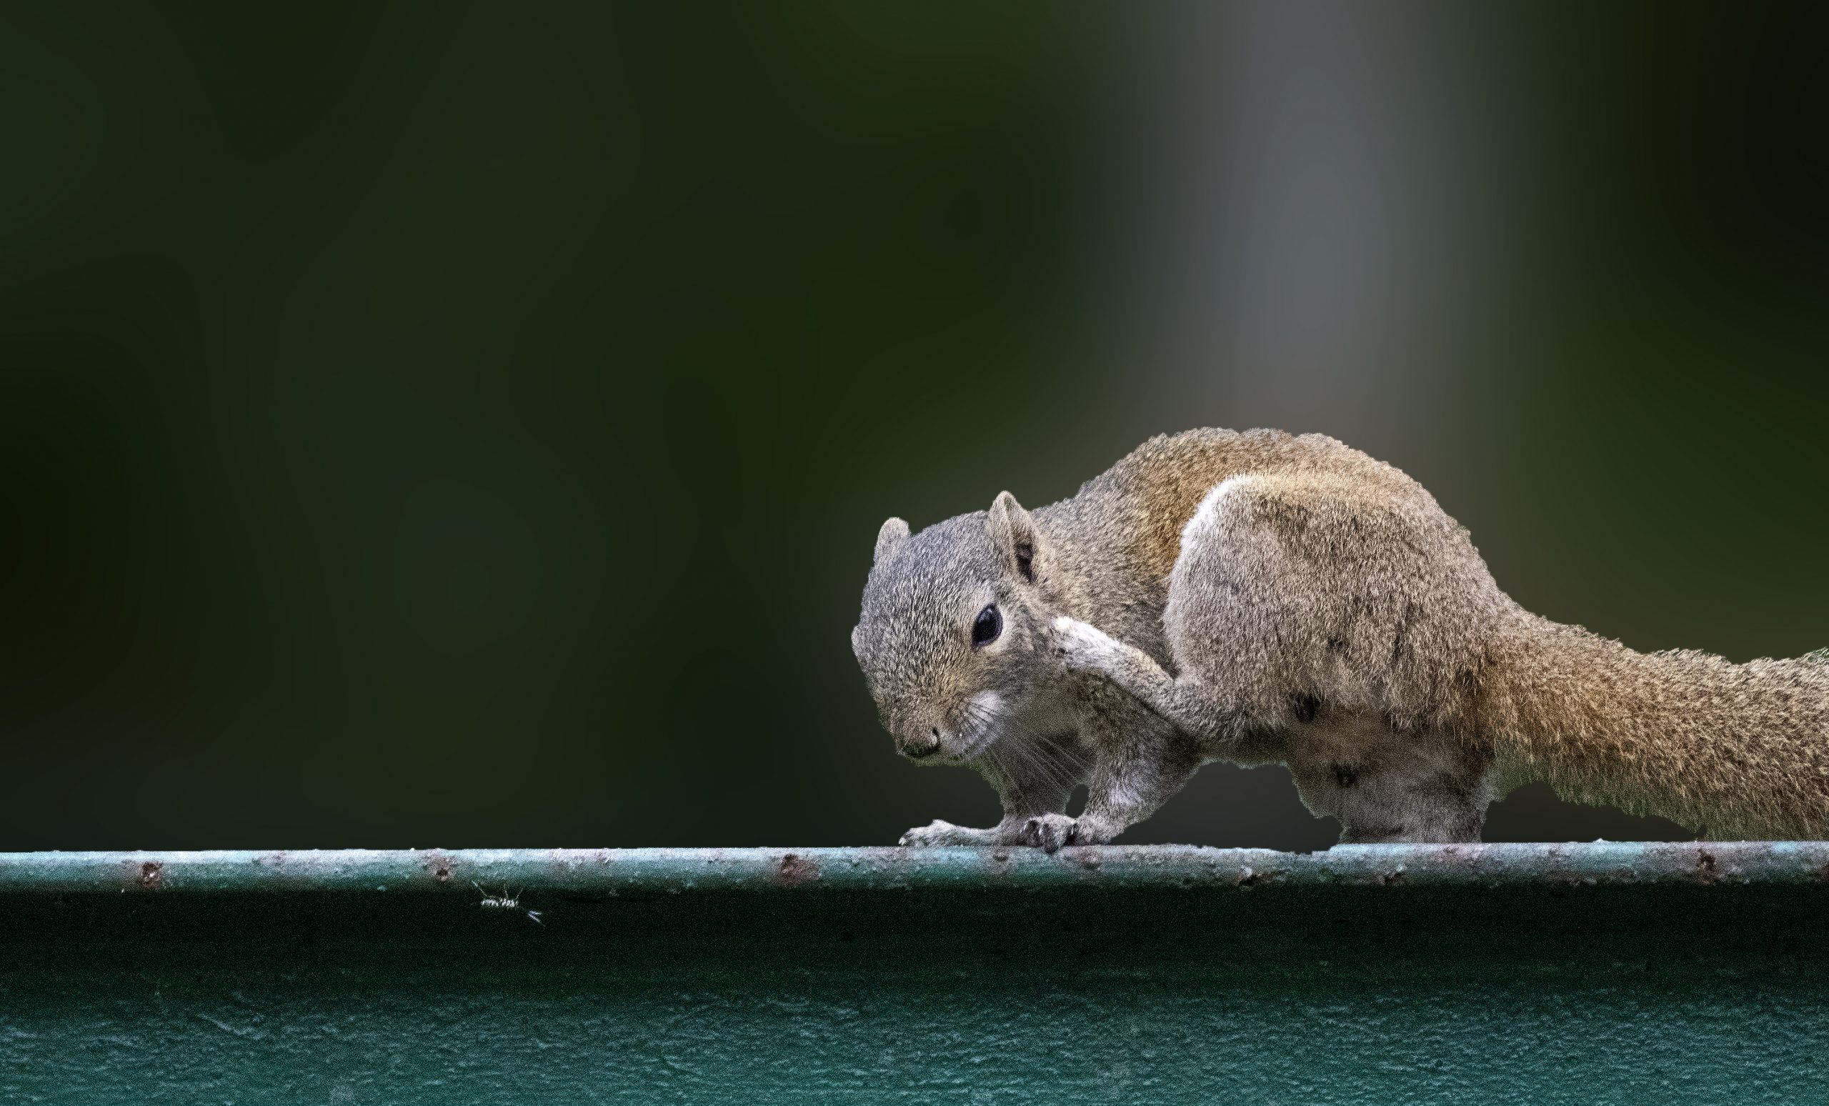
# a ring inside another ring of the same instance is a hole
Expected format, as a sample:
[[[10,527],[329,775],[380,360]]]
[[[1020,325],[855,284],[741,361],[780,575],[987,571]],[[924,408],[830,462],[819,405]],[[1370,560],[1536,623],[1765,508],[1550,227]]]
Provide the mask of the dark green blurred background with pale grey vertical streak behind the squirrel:
[[[876,525],[1326,431],[1829,645],[1814,5],[0,15],[0,848],[887,843]],[[1558,804],[1489,837],[1683,835]],[[1127,841],[1319,846],[1213,766]]]

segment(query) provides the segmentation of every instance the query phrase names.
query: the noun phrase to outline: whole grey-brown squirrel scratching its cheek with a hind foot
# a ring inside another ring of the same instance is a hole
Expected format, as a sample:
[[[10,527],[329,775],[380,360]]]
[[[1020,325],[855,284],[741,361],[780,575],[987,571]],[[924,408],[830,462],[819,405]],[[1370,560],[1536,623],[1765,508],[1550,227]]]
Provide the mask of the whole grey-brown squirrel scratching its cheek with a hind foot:
[[[1107,843],[1209,760],[1286,764],[1344,843],[1478,841],[1529,781],[1712,839],[1829,830],[1829,653],[1531,614],[1421,484],[1322,435],[1163,435],[1033,512],[893,517],[850,642],[898,751],[1002,803],[902,845]]]

